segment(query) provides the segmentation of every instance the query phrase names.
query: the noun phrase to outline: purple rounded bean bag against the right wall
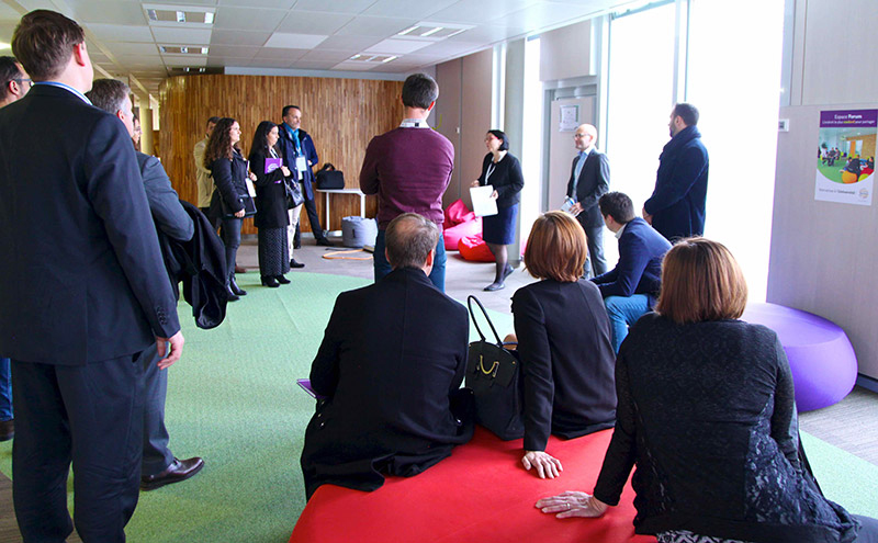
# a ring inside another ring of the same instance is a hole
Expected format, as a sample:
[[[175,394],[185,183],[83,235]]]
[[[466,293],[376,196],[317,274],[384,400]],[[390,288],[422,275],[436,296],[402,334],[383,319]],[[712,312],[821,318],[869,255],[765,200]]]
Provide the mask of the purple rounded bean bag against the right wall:
[[[835,323],[777,304],[747,304],[741,319],[777,332],[792,370],[799,411],[836,404],[854,388],[857,357]]]

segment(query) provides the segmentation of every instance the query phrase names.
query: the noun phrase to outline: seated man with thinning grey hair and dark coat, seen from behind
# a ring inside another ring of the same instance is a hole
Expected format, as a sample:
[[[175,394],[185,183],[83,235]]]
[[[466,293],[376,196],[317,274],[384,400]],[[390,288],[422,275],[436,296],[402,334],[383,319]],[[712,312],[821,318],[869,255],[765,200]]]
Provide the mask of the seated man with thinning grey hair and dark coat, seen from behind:
[[[472,438],[466,309],[428,278],[439,236],[399,215],[385,234],[393,271],[336,299],[311,367],[323,399],[302,451],[308,498],[324,484],[374,490],[382,474],[417,475]]]

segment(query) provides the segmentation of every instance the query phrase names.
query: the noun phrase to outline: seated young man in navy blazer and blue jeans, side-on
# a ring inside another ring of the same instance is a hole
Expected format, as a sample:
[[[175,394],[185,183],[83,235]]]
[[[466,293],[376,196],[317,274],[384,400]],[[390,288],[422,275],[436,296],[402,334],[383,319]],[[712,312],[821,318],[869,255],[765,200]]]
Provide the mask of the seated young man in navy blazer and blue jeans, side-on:
[[[626,194],[608,192],[598,203],[607,228],[619,239],[619,262],[592,281],[604,296],[612,348],[619,352],[628,327],[655,305],[662,285],[662,259],[671,244],[644,219],[634,216],[634,203]]]

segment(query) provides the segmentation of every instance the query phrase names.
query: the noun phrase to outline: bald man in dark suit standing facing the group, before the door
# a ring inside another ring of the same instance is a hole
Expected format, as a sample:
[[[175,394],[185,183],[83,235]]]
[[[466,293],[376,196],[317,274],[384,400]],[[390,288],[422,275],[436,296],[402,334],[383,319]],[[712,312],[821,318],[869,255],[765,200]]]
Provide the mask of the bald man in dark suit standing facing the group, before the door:
[[[592,272],[596,276],[607,271],[607,259],[604,258],[604,220],[600,218],[597,201],[610,188],[610,162],[606,155],[595,148],[597,128],[590,124],[581,124],[576,128],[573,143],[579,152],[573,159],[567,181],[567,196],[574,201],[570,212],[585,230]]]

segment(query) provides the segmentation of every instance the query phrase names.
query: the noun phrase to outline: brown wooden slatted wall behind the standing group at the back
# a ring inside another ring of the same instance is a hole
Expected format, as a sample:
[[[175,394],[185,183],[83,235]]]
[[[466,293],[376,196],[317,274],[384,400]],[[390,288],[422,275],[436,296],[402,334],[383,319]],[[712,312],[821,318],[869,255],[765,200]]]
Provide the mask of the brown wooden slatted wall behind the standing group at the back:
[[[184,76],[166,79],[159,90],[161,161],[180,197],[196,203],[192,148],[204,137],[212,115],[235,117],[241,127],[240,146],[249,152],[261,121],[281,122],[284,105],[302,109],[302,128],[311,134],[319,165],[331,162],[345,172],[345,185],[358,186],[369,140],[398,125],[403,117],[401,81],[326,79],[274,76]],[[316,199],[324,228],[340,229],[341,217],[360,214],[359,197],[333,195],[333,216],[326,222],[324,199]],[[378,202],[367,199],[365,214],[374,217]],[[302,211],[302,229],[311,231]],[[255,234],[248,219],[245,234]]]

